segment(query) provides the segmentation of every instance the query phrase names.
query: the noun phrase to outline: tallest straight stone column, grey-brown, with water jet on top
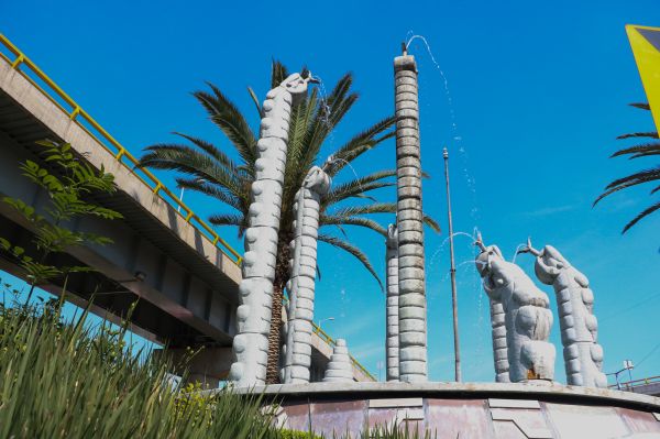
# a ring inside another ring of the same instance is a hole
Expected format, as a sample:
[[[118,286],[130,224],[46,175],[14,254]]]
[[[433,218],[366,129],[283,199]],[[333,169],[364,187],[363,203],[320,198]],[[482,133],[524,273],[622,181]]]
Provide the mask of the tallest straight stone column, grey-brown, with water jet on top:
[[[417,65],[404,52],[394,59],[397,231],[399,276],[399,378],[427,381],[427,310],[421,210]]]

